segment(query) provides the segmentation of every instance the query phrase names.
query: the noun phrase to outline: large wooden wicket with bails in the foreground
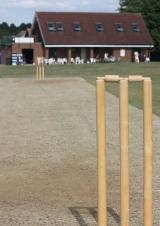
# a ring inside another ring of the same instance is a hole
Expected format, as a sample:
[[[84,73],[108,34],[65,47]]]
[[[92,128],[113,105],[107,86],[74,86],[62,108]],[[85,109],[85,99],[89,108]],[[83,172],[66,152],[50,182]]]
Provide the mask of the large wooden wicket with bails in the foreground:
[[[144,226],[152,226],[152,81],[148,77],[97,77],[98,226],[107,226],[105,83],[120,86],[120,192],[121,226],[129,226],[128,83],[143,82],[144,93]]]

